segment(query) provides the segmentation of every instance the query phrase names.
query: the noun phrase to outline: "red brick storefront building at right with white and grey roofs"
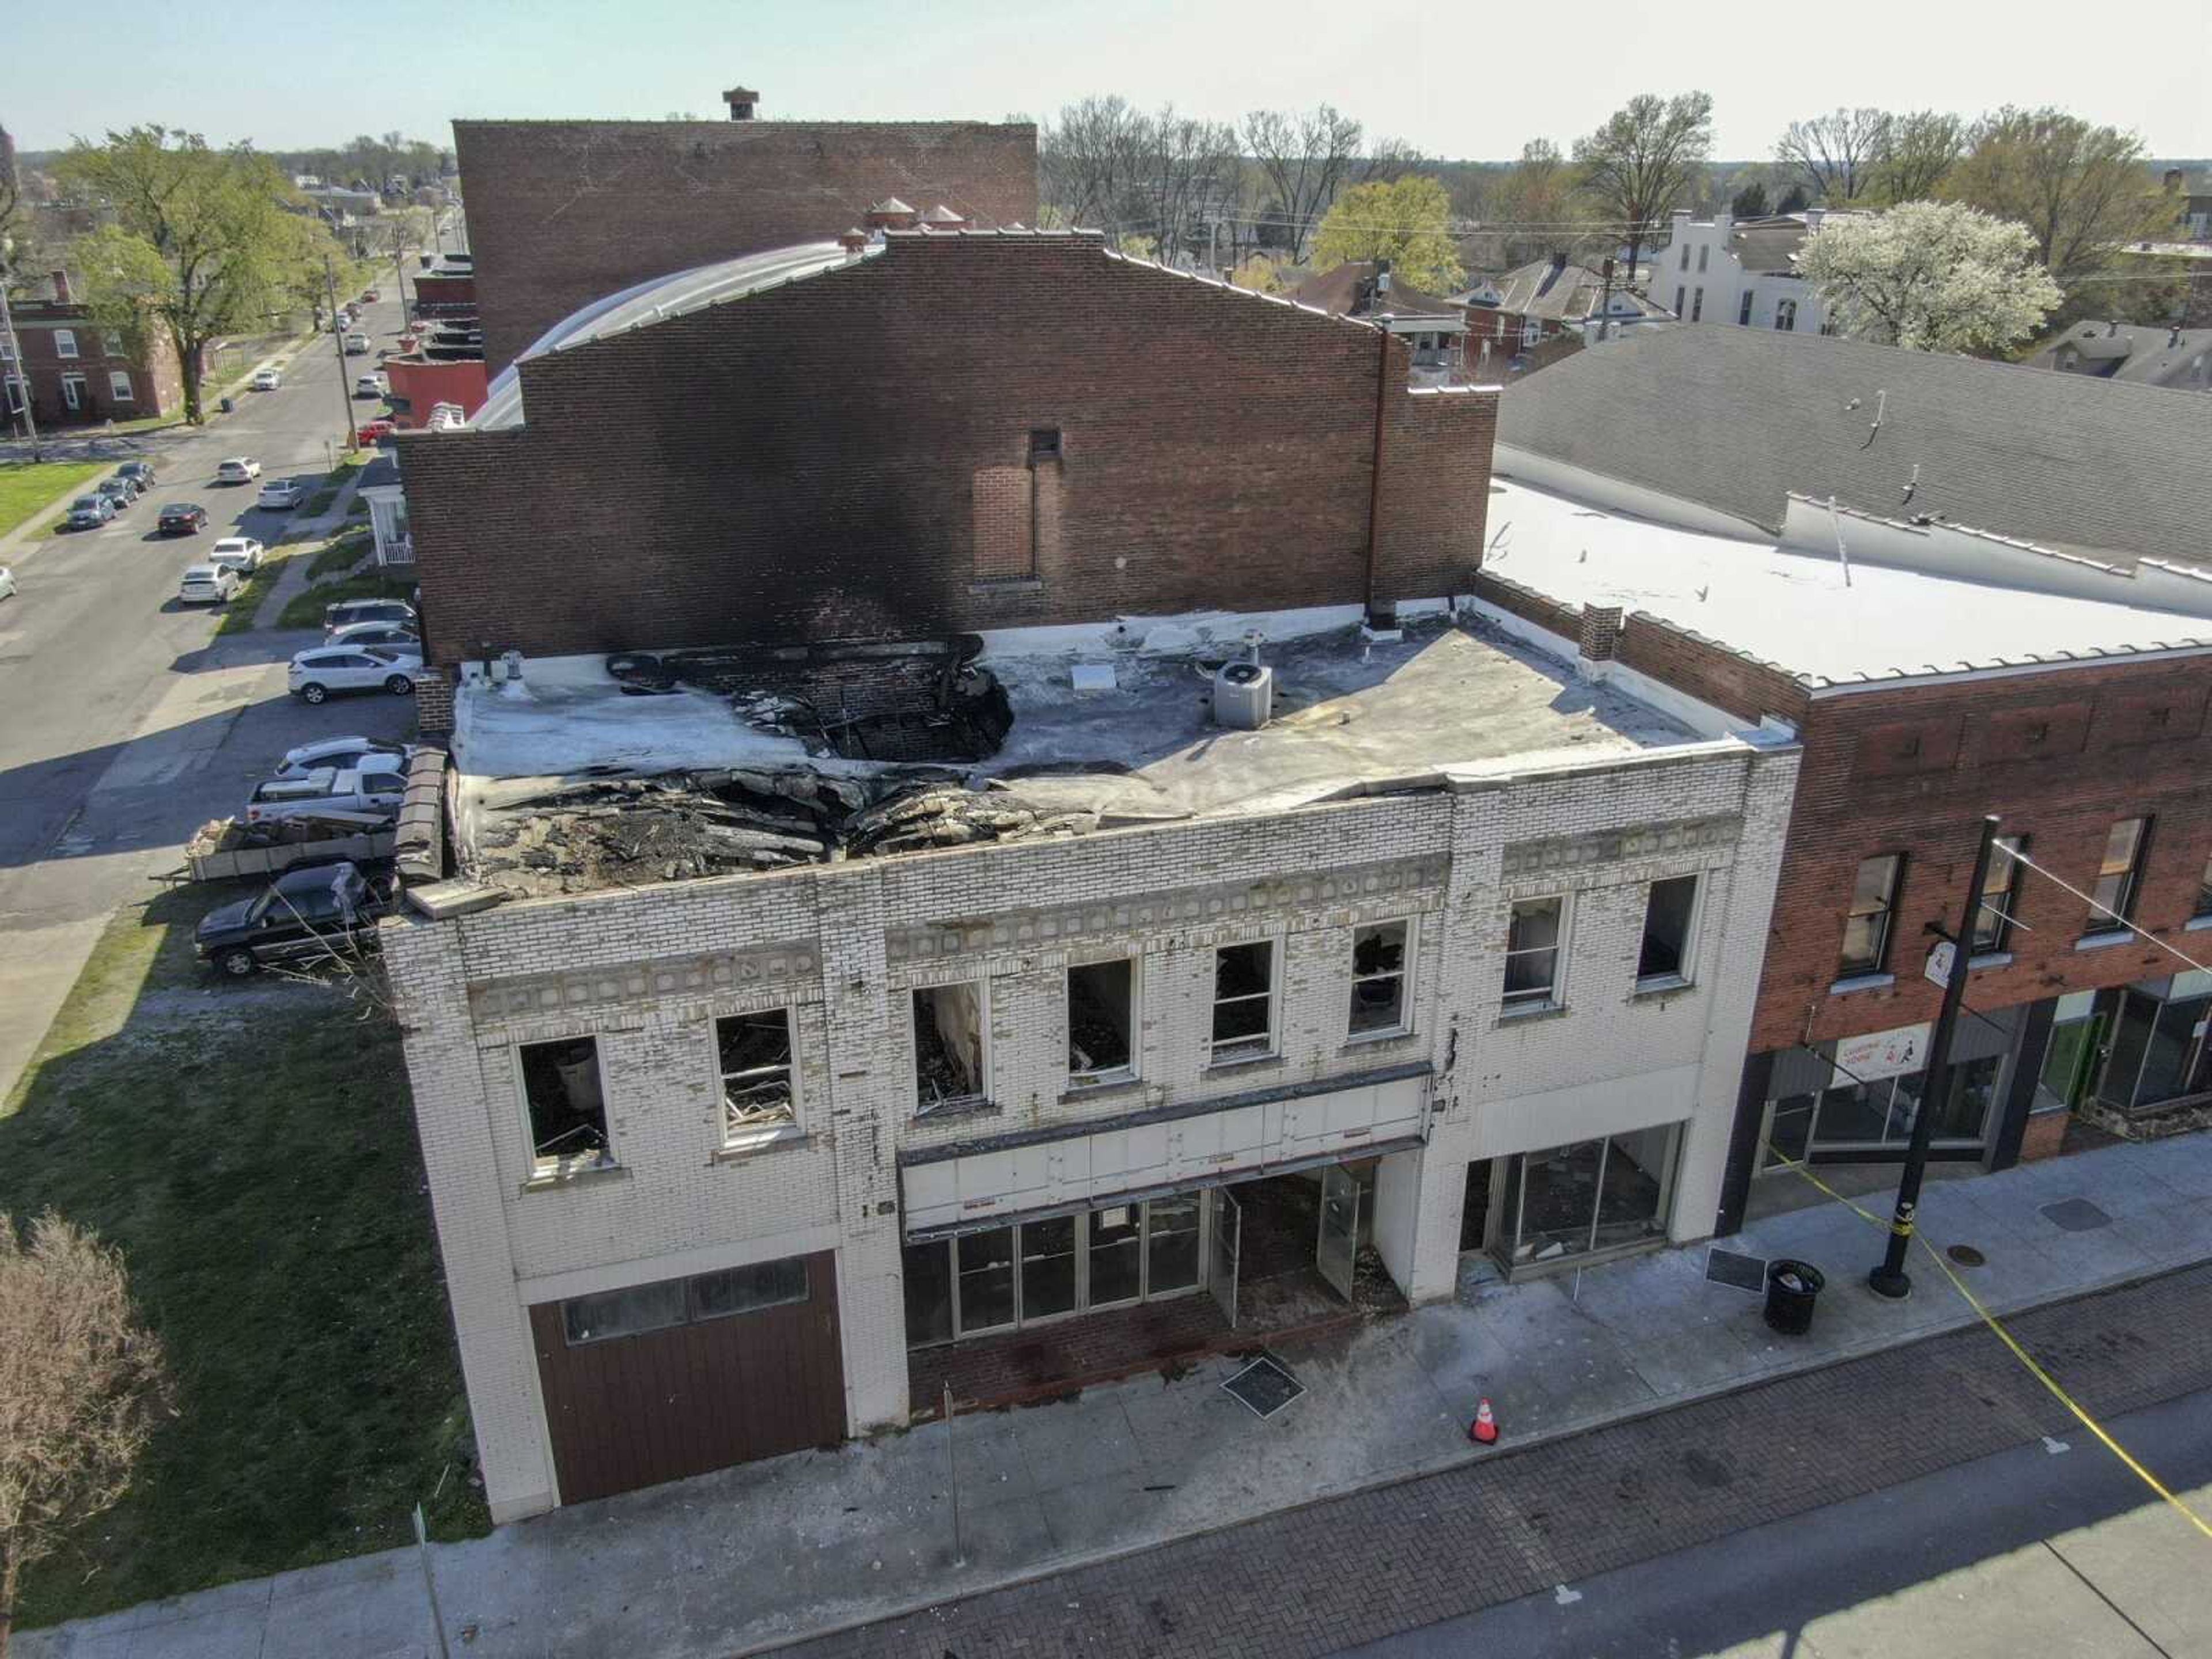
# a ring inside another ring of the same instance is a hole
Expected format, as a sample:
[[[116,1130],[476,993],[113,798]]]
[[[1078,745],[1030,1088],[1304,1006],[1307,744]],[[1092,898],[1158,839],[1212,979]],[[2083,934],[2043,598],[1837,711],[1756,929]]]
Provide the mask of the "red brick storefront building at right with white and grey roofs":
[[[1750,330],[1504,400],[1478,599],[1551,635],[1628,606],[1621,664],[1803,743],[1723,1232],[1794,1159],[1902,1155],[1984,812],[2035,869],[1980,894],[1933,1155],[2212,1102],[2205,453],[2203,398]]]

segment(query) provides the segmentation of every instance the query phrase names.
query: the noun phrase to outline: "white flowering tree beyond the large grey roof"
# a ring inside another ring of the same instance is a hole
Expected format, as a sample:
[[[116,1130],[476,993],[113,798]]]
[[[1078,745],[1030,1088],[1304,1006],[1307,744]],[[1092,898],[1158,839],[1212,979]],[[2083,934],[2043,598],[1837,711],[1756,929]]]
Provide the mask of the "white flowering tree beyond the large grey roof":
[[[1829,219],[1798,270],[1838,334],[1913,352],[2002,352],[2064,299],[2026,226],[1960,201]]]

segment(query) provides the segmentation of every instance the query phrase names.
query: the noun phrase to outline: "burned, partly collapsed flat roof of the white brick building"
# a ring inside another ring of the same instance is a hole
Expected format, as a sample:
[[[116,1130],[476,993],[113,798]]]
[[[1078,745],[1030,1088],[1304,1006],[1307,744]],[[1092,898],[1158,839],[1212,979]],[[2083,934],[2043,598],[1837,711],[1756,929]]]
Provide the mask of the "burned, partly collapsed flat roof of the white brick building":
[[[1210,666],[1272,635],[1274,719],[1210,719]],[[1318,628],[1298,637],[1292,630]],[[1367,644],[1356,613],[1128,619],[993,635],[975,664],[1011,730],[971,763],[889,763],[794,734],[770,692],[633,697],[597,657],[531,661],[526,690],[462,686],[462,874],[509,894],[653,885],[832,856],[1073,836],[1444,787],[1701,741],[1677,721],[1442,615]],[[1075,670],[1110,690],[1075,690]],[[841,699],[843,701],[843,699]],[[814,710],[807,710],[814,717]]]

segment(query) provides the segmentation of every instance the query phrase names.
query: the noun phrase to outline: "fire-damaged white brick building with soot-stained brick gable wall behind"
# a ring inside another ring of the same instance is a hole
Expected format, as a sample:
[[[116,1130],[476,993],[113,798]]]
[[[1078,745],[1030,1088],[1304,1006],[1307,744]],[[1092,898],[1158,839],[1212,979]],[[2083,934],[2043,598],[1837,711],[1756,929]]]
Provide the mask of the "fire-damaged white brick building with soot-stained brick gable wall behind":
[[[869,230],[398,442],[451,869],[385,960],[502,1520],[1721,1199],[1798,748],[1471,597],[1495,389]]]

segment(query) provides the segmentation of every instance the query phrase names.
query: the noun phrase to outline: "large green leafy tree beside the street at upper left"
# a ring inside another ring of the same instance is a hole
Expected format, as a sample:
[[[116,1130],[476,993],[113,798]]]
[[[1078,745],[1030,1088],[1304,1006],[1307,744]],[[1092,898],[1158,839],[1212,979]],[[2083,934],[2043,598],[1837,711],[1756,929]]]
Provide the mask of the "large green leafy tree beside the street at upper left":
[[[113,215],[71,246],[93,316],[166,332],[184,418],[199,420],[206,347],[283,310],[327,232],[285,212],[292,186],[270,157],[217,150],[197,133],[133,126],[106,144],[77,139],[55,173]]]

